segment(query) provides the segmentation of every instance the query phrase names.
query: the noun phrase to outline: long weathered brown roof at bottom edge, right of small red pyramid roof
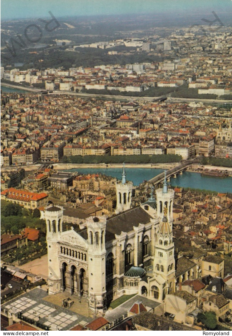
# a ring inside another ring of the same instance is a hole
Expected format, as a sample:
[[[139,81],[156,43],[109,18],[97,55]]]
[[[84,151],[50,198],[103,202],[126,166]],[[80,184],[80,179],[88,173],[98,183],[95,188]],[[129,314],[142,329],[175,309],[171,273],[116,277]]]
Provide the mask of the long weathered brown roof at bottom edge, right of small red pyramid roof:
[[[132,323],[137,324],[149,330],[196,330],[191,327],[187,327],[181,323],[177,323],[168,320],[164,317],[143,311],[140,314],[132,317]]]

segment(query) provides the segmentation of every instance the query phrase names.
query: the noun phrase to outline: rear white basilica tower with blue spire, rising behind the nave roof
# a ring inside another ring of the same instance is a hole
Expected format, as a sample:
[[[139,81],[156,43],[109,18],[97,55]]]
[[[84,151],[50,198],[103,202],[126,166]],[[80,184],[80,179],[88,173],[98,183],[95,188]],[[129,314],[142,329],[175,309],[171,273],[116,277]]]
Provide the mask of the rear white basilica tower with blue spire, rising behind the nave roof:
[[[131,208],[132,186],[133,182],[126,180],[125,164],[123,164],[122,181],[117,181],[116,183],[116,213],[129,210]]]

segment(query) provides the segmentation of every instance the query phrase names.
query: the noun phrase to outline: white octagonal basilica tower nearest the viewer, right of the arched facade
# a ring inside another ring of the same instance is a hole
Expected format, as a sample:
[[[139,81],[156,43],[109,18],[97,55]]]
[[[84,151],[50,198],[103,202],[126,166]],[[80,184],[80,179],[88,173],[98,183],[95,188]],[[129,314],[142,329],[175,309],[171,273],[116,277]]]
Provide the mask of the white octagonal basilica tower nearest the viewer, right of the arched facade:
[[[105,228],[106,218],[104,216],[87,219],[89,306],[101,313],[106,310]]]

